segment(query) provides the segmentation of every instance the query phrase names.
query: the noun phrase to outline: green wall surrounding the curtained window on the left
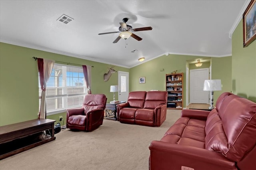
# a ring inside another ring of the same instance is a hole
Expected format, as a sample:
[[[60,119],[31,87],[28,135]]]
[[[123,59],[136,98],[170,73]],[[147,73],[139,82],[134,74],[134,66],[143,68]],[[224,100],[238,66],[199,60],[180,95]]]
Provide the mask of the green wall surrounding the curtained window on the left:
[[[103,80],[103,75],[107,73],[107,67],[110,65],[0,43],[0,126],[38,118],[38,68],[37,61],[32,57],[93,65],[92,94],[103,93],[108,101],[112,100],[110,85],[118,84],[118,73],[113,73],[107,82]],[[124,67],[116,66],[114,69],[129,72],[129,69]],[[66,117],[66,113],[60,113],[47,118],[58,121],[60,115]]]

